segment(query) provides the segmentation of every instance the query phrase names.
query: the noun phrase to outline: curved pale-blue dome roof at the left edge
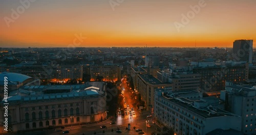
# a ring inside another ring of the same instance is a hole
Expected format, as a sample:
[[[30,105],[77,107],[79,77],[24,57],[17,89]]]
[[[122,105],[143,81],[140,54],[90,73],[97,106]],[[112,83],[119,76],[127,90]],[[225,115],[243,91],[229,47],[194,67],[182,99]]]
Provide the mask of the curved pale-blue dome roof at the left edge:
[[[4,77],[8,78],[8,82],[24,82],[25,80],[32,78],[23,74],[3,72],[0,74],[0,82],[4,82]]]

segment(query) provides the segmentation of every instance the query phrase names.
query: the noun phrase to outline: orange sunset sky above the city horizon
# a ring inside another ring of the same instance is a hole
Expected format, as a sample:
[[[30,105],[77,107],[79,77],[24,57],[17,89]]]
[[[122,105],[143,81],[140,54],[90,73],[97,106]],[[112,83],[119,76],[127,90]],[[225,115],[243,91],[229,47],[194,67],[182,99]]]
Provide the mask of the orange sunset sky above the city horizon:
[[[115,10],[109,0],[37,0],[8,27],[20,1],[0,1],[0,47],[70,47],[76,33],[86,37],[76,47],[256,47],[255,0],[205,0],[180,32],[174,22],[200,0],[123,0]]]

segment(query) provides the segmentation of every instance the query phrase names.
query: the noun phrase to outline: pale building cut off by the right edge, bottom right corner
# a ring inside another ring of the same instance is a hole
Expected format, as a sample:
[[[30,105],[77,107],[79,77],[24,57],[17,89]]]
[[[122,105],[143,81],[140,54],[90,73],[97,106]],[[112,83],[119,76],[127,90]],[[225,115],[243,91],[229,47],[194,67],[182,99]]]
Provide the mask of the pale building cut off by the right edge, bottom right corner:
[[[241,116],[241,128],[244,134],[256,134],[256,87],[250,85],[226,86],[221,91],[225,109]]]

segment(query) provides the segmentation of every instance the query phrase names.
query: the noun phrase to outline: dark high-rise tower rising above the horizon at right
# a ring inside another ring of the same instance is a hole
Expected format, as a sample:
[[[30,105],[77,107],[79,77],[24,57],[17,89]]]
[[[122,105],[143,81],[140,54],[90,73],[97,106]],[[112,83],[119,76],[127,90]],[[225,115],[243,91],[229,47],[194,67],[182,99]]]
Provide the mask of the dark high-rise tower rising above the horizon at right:
[[[252,63],[252,42],[253,40],[235,40],[233,42],[233,61],[247,61]]]

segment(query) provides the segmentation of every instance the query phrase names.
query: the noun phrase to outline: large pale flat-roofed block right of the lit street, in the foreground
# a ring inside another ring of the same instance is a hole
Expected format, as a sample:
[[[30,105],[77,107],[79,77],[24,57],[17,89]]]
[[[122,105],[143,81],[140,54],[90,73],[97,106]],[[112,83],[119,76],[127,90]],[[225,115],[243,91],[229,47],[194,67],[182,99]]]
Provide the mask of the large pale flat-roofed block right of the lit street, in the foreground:
[[[211,108],[207,99],[201,98],[202,94],[193,91],[166,93],[164,89],[157,89],[154,109],[156,123],[171,127],[181,135],[203,135],[219,128],[241,131],[241,117]]]

